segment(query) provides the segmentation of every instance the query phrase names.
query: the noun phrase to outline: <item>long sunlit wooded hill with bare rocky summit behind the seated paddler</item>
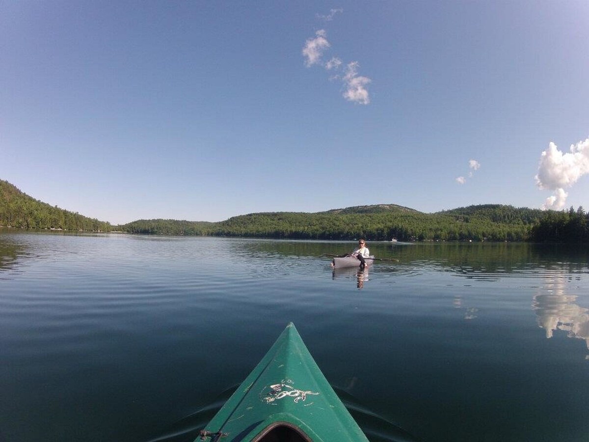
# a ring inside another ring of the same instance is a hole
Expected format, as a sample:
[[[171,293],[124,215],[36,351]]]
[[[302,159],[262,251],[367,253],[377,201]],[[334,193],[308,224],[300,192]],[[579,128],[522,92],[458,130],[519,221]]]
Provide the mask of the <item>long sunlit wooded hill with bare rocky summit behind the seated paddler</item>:
[[[250,213],[216,223],[210,235],[402,241],[523,241],[530,235],[526,220],[495,222],[488,216],[471,215],[472,210],[467,209],[464,215],[459,211],[422,213],[396,204],[378,204],[317,213]]]

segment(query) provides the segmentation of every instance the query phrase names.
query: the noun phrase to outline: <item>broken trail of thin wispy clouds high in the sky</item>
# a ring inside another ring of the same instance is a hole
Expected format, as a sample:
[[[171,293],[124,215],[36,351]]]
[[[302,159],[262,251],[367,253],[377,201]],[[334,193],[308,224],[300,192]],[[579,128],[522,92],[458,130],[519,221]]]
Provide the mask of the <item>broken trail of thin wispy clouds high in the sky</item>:
[[[317,17],[331,21],[333,16],[338,12],[343,12],[343,9],[331,9],[329,15],[317,15]],[[343,97],[357,104],[369,104],[370,95],[366,86],[372,81],[368,77],[358,74],[358,61],[352,61],[345,65],[343,72],[343,61],[339,57],[331,57],[329,61],[323,61],[323,54],[329,50],[331,44],[327,41],[327,32],[325,29],[319,29],[315,32],[315,37],[307,38],[302,54],[305,58],[305,66],[312,67],[313,65],[320,65],[327,71],[336,72],[329,77],[329,80],[340,80],[343,83]],[[340,72],[340,73],[337,73]]]

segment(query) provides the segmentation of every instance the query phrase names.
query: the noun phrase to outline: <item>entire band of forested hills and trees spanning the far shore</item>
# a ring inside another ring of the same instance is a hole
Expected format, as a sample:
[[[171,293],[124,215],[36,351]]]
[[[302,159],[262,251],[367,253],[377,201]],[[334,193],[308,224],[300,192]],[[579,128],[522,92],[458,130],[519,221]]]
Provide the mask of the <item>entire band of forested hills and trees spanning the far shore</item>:
[[[589,215],[583,207],[555,212],[502,204],[459,207],[438,213],[378,204],[317,213],[250,213],[221,222],[137,220],[113,228],[110,223],[35,200],[1,180],[0,226],[284,239],[589,242]]]

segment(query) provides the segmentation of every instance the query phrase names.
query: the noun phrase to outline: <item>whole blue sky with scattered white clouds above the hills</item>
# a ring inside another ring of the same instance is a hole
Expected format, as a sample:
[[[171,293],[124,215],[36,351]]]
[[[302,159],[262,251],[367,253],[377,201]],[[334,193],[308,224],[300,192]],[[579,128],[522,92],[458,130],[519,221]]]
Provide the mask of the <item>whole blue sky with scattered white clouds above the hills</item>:
[[[589,209],[588,22],[574,0],[0,1],[0,179],[114,224]]]

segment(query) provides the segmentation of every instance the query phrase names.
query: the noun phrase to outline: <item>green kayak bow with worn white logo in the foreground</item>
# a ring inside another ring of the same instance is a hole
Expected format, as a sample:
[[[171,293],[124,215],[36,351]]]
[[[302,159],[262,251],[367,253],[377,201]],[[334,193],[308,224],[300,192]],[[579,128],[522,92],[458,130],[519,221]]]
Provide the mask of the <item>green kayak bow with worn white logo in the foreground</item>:
[[[368,442],[291,322],[194,442]]]

